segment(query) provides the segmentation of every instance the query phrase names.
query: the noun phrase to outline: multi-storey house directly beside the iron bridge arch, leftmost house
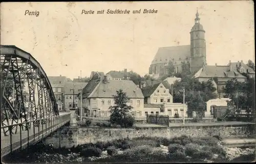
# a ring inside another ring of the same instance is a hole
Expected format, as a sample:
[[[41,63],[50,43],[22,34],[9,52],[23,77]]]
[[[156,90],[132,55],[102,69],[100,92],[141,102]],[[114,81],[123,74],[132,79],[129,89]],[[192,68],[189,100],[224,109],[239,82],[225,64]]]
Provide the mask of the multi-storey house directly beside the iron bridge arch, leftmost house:
[[[61,75],[49,76],[48,79],[51,83],[59,111],[65,110],[64,84],[66,82],[72,82],[72,80],[70,78],[67,78],[66,76],[61,76]]]

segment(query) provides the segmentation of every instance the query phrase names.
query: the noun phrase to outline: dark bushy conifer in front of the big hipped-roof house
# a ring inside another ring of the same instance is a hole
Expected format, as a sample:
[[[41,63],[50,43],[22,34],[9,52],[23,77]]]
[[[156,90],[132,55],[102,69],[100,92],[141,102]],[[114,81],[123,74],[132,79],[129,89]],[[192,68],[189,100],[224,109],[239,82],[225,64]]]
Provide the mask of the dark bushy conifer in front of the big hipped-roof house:
[[[113,95],[115,105],[109,107],[111,112],[110,122],[112,124],[121,125],[121,127],[130,127],[134,122],[134,119],[128,113],[133,109],[132,106],[127,105],[130,99],[122,89],[117,90],[116,93],[116,95]]]

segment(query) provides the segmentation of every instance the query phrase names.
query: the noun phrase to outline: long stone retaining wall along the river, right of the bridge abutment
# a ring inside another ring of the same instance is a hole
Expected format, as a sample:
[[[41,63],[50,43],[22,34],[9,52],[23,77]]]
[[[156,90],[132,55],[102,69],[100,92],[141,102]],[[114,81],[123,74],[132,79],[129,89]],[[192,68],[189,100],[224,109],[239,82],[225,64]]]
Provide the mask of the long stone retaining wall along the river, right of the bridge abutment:
[[[219,135],[221,137],[248,137],[247,127],[167,127],[162,128],[79,128],[78,144],[96,143],[97,141],[113,140],[118,138],[134,138],[139,136],[174,137],[190,135],[195,137],[208,137]],[[254,133],[255,134],[255,133]]]

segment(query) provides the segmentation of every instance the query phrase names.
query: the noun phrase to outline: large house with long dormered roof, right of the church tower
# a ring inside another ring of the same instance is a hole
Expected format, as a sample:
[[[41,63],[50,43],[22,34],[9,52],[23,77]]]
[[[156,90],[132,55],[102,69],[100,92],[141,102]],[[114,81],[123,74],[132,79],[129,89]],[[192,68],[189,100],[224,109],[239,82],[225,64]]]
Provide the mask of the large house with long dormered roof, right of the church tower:
[[[210,79],[215,79],[217,84],[217,92],[219,93],[219,97],[223,98],[224,96],[224,87],[228,80],[237,79],[240,82],[245,82],[246,77],[243,76],[240,72],[243,68],[239,70],[241,67],[234,67],[234,64],[229,61],[228,65],[204,65],[199,71],[194,75],[195,79],[198,79],[200,82],[208,81]],[[244,64],[245,65],[245,64]]]

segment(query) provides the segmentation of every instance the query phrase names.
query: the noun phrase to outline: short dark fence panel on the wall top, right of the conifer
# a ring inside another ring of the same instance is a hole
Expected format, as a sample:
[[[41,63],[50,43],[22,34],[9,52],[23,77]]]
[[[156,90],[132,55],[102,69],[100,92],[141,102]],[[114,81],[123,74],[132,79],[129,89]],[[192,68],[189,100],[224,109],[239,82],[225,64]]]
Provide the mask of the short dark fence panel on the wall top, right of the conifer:
[[[169,115],[146,115],[146,123],[169,126]]]

